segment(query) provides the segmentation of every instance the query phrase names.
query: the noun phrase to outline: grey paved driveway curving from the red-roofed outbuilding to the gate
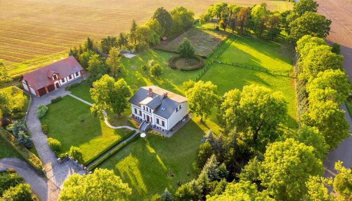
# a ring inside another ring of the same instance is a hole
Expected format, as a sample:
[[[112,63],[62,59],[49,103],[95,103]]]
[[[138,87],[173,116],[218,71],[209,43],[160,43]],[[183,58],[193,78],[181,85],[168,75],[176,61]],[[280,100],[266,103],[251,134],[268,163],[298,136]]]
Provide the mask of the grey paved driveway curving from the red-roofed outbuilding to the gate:
[[[73,173],[83,174],[85,171],[78,167],[73,161],[67,160],[62,163],[57,162],[54,152],[50,149],[47,143],[47,136],[41,129],[41,124],[37,116],[37,107],[40,104],[49,105],[51,103],[51,99],[57,96],[65,96],[69,94],[70,91],[65,90],[65,87],[70,84],[80,82],[81,80],[83,80],[83,78],[67,83],[64,86],[41,97],[31,95],[32,103],[29,107],[27,115],[26,124],[31,133],[39,158],[46,170],[46,175],[55,185],[60,188],[62,188],[63,181],[65,181],[70,175]]]

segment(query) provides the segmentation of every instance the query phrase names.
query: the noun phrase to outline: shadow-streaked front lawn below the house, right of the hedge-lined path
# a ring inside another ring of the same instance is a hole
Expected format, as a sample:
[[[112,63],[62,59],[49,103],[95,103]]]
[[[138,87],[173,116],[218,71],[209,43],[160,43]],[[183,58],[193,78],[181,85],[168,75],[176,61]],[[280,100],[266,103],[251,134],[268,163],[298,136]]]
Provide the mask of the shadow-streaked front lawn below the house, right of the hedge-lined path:
[[[196,118],[197,119],[197,118]],[[195,176],[192,163],[201,144],[203,125],[190,120],[170,138],[148,135],[147,141],[137,138],[99,165],[121,176],[132,188],[128,200],[149,200],[167,187],[173,192],[177,181],[186,182]],[[169,168],[174,174],[168,177]],[[187,175],[189,173],[189,175]]]

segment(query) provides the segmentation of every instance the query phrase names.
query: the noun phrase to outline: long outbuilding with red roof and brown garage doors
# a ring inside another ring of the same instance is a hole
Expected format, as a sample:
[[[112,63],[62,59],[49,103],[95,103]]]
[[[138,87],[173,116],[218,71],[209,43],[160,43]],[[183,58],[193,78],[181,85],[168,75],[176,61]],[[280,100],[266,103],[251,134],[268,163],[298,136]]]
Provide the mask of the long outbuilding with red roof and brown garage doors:
[[[21,77],[23,88],[42,96],[83,75],[83,68],[73,56],[49,64]]]

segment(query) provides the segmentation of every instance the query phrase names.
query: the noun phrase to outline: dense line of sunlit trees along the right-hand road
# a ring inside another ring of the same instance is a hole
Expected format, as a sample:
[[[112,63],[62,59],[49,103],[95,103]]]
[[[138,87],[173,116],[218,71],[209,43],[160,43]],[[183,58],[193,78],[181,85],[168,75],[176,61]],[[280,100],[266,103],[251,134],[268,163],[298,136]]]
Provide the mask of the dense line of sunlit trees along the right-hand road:
[[[343,57],[318,37],[303,36],[297,41],[299,81],[305,83],[309,106],[301,123],[316,127],[329,149],[348,137],[348,124],[341,104],[350,90],[343,69]]]

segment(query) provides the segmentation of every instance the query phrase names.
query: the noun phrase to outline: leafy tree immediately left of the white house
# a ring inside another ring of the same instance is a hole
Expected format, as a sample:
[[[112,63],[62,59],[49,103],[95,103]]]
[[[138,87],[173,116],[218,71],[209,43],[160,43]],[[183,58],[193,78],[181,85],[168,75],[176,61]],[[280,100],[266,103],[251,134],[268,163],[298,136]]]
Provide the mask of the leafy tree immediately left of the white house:
[[[121,113],[128,107],[126,98],[131,95],[131,88],[126,81],[121,78],[115,82],[113,77],[104,75],[93,85],[94,88],[90,90],[94,101],[91,112],[102,119],[104,118],[103,111],[111,111],[121,117]]]

